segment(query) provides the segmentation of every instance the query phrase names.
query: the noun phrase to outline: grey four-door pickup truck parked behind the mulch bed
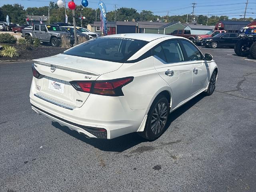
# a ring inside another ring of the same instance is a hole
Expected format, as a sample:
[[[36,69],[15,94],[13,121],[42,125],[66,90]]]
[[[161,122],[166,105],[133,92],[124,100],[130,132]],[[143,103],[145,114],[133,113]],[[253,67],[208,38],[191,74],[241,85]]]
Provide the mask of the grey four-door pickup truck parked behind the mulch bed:
[[[60,46],[62,35],[70,39],[70,34],[62,32],[58,25],[34,24],[32,30],[22,30],[22,37],[28,38],[31,41],[34,38],[38,38],[41,42],[48,42],[53,47]]]

